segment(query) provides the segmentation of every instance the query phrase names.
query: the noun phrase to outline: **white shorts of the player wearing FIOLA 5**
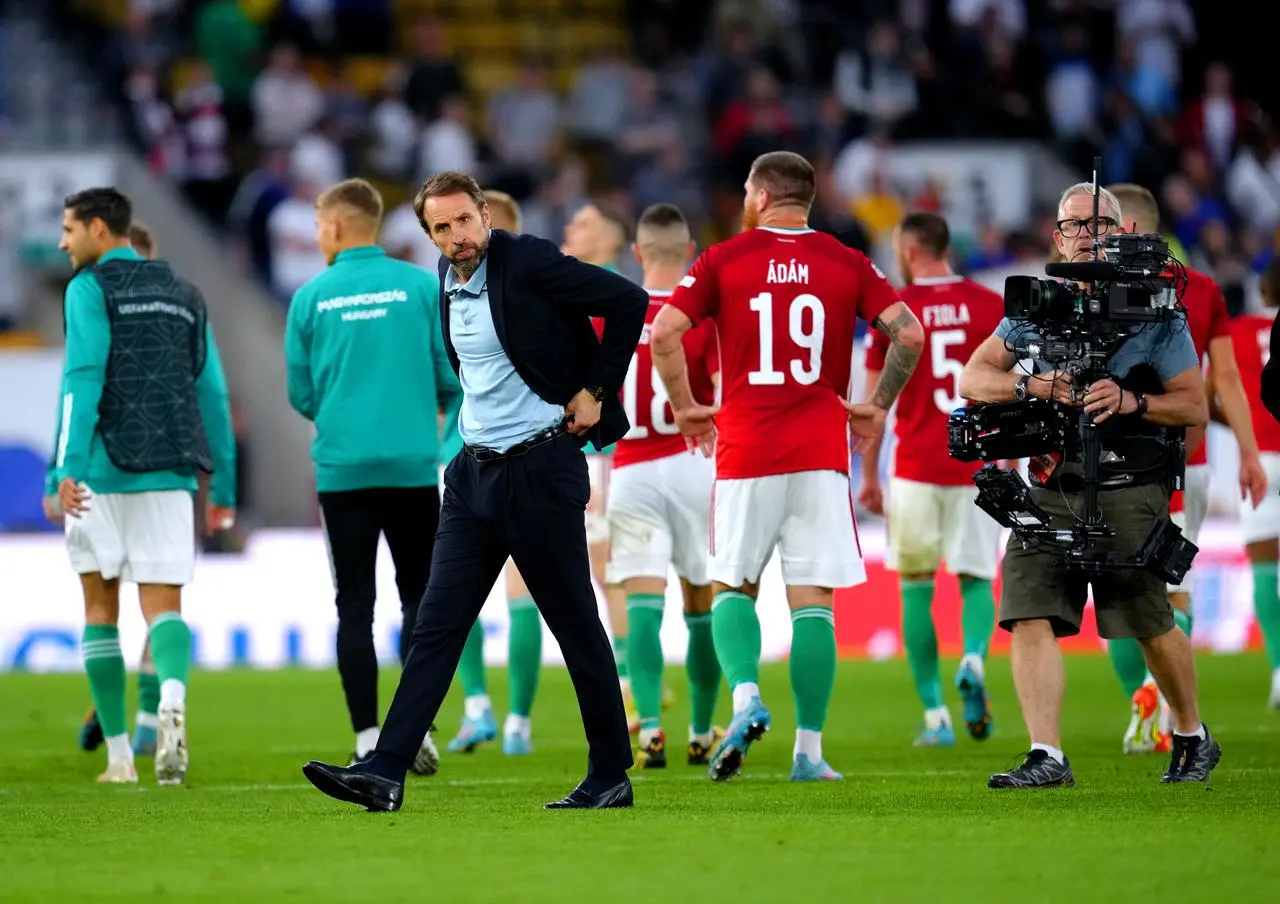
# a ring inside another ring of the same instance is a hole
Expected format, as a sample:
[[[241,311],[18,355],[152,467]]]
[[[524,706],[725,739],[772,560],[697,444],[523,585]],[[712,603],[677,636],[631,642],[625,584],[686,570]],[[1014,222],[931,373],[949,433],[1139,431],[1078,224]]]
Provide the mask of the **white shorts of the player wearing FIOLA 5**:
[[[941,562],[954,575],[996,579],[1000,525],[974,504],[978,488],[938,487],[892,478],[888,485],[886,567],[932,575]]]

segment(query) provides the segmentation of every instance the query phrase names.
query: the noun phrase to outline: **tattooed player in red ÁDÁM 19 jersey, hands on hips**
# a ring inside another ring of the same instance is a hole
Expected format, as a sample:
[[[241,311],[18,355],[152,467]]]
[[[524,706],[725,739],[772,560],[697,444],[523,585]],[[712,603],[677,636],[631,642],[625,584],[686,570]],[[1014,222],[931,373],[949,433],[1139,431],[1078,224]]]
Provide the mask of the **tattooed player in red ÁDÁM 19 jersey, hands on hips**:
[[[822,755],[836,674],[832,589],[865,580],[850,499],[849,430],[859,451],[883,432],[924,335],[874,264],[809,229],[808,160],[765,154],[745,188],[744,232],[703,252],[653,327],[654,362],[676,423],[704,451],[716,447],[712,630],[733,689],[733,722],[708,771],[717,780],[736,775],[769,727],[755,597],[777,548],[791,608],[799,726],[791,779],[840,779]],[[872,401],[852,405],[846,394],[859,316],[887,332],[892,347]],[[721,339],[718,412],[694,400],[681,344],[707,319]]]

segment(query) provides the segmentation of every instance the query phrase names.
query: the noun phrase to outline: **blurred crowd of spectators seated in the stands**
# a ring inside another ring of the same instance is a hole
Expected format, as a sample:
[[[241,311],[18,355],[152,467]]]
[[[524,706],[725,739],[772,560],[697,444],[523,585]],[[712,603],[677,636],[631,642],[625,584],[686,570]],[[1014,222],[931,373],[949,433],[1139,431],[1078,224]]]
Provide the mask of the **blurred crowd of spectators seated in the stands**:
[[[904,211],[947,210],[945,186],[890,170],[923,138],[1037,141],[1078,172],[1102,154],[1107,182],[1156,191],[1178,254],[1234,309],[1280,247],[1277,136],[1188,0],[564,0],[622,19],[632,46],[602,44],[563,91],[554,55],[485,51],[515,67],[481,91],[452,29],[524,8],[503,3],[406,20],[392,0],[132,0],[105,33],[63,5],[151,166],[282,300],[324,266],[311,201],[344,175],[389,187],[384,243],[431,265],[407,207],[431,173],[479,174],[557,241],[605,197],[675,201],[707,242],[736,230],[750,160],[778,147],[818,165],[814,224],[888,264]],[[371,87],[370,55],[389,59]],[[995,280],[1042,261],[1052,219],[978,224],[956,264]]]

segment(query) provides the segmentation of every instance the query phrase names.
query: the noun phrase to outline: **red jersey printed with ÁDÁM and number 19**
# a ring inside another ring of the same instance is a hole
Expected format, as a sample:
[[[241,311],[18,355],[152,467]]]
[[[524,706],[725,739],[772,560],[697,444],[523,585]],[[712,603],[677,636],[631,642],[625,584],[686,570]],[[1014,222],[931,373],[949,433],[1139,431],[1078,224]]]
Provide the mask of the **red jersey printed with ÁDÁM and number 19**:
[[[854,328],[897,301],[864,255],[812,229],[713,245],[671,303],[721,341],[717,478],[849,471]]]

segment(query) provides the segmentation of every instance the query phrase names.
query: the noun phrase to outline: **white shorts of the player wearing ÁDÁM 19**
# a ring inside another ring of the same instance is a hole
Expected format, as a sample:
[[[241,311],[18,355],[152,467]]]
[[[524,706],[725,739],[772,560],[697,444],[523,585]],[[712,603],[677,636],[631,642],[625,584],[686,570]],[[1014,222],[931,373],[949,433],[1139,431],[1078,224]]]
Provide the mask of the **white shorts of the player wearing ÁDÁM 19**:
[[[856,586],[867,580],[849,475],[796,471],[717,479],[710,579],[754,584],[777,548],[788,586]]]

